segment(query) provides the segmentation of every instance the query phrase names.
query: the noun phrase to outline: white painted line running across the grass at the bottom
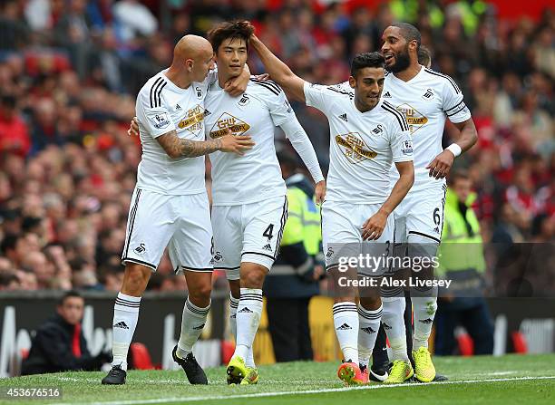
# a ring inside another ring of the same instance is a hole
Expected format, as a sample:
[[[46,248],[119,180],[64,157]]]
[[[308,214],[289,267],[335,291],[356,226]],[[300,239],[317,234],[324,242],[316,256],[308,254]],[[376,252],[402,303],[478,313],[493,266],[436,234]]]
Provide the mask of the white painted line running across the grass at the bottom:
[[[236,400],[241,398],[264,398],[264,397],[281,397],[284,395],[305,395],[305,394],[320,394],[327,392],[342,392],[342,391],[358,391],[358,390],[379,390],[390,388],[402,387],[426,387],[430,385],[447,385],[447,384],[474,384],[477,382],[503,382],[503,381],[533,381],[533,380],[555,380],[555,376],[540,376],[540,377],[513,377],[506,379],[488,379],[488,380],[463,380],[463,381],[438,381],[428,383],[403,383],[392,385],[363,385],[356,387],[343,387],[343,388],[327,388],[322,390],[305,390],[305,391],[277,391],[277,392],[253,392],[250,394],[231,394],[231,395],[213,395],[203,397],[175,397],[175,398],[161,398],[153,400],[116,400],[105,402],[78,402],[73,405],[133,405],[133,404],[156,404],[156,403],[169,403],[169,402],[199,402],[203,400]],[[67,405],[67,402],[59,402],[51,405]]]

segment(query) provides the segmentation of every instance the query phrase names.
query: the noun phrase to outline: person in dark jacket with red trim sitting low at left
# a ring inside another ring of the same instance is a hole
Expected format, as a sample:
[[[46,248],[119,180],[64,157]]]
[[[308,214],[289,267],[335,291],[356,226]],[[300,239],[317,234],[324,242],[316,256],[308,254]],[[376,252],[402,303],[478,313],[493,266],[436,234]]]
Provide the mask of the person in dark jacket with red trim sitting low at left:
[[[22,375],[59,371],[99,371],[111,356],[100,352],[92,356],[83,336],[84,300],[74,291],[63,294],[56,314],[39,326],[31,342]]]

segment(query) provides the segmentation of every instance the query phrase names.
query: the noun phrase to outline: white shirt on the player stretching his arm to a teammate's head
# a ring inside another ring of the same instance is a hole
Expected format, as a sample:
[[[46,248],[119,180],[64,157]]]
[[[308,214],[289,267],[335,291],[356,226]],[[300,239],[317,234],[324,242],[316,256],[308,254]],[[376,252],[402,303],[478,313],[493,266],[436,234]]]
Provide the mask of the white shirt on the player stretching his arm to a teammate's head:
[[[383,204],[389,196],[389,169],[413,160],[403,114],[381,100],[374,109],[355,107],[354,90],[342,84],[305,82],[307,105],[329,121],[330,148],[326,201]]]

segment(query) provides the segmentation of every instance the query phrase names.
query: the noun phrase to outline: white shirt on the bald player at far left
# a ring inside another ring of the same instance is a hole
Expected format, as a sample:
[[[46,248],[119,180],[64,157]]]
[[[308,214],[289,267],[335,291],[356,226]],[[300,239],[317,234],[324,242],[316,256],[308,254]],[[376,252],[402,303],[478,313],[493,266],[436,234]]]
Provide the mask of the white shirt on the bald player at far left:
[[[142,145],[137,187],[167,195],[203,193],[204,156],[171,159],[156,138],[176,130],[181,139],[205,140],[204,98],[216,73],[210,72],[204,82],[181,89],[164,72],[151,77],[137,96],[135,111]]]

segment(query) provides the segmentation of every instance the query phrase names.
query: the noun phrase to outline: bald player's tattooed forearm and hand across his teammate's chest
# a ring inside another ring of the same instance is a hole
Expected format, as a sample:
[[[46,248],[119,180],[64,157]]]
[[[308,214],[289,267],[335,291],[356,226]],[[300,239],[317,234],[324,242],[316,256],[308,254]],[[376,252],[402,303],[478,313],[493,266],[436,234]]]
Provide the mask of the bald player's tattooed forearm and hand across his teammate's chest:
[[[216,140],[184,140],[177,136],[175,130],[171,130],[157,137],[156,140],[171,159],[196,158],[208,155],[216,150],[243,155],[246,150],[252,149],[254,146],[250,137],[234,137],[230,132]]]

